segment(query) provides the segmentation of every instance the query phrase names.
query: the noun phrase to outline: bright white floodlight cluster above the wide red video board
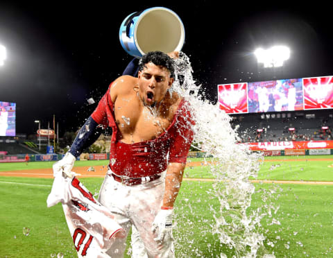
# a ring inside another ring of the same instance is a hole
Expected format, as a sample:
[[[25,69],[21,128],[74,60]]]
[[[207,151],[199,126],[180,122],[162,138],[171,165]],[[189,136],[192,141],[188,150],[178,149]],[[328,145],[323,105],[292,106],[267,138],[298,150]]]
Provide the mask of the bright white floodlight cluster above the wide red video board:
[[[255,51],[257,62],[263,63],[265,68],[282,67],[283,62],[290,57],[290,49],[287,46],[273,46],[270,49],[257,49]]]

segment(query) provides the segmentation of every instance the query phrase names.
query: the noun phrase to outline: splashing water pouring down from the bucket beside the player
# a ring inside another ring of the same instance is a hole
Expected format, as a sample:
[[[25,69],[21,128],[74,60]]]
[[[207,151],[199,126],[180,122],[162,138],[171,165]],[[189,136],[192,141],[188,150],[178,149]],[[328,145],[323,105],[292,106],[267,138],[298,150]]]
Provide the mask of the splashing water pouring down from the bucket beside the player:
[[[251,212],[248,211],[252,195],[255,193],[255,187],[249,178],[257,177],[262,155],[251,153],[245,144],[237,144],[239,136],[237,130],[233,130],[230,126],[230,116],[219,110],[218,105],[212,105],[200,98],[198,95],[200,85],[196,85],[192,72],[189,58],[180,52],[180,57],[176,60],[175,75],[181,80],[175,80],[172,91],[184,96],[191,104],[191,111],[196,120],[193,144],[199,150],[205,151],[206,157],[212,157],[214,161],[210,162],[210,173],[215,180],[208,192],[217,198],[219,207],[207,203],[213,214],[214,223],[210,229],[212,232],[208,232],[209,230],[202,232],[203,239],[207,234],[216,234],[221,245],[234,250],[234,255],[237,257],[256,257],[259,250],[266,252],[264,248],[266,237],[260,231],[260,221],[264,216],[272,218],[271,210],[275,210],[275,207],[269,203],[273,191],[262,190],[264,205]],[[190,204],[189,209],[192,212]],[[209,209],[206,209],[206,212],[209,212]],[[272,221],[278,225],[278,221]],[[183,238],[191,239],[191,232]],[[192,251],[198,257],[205,257],[198,248]],[[274,257],[269,254],[264,256]],[[219,257],[226,255],[221,252]]]

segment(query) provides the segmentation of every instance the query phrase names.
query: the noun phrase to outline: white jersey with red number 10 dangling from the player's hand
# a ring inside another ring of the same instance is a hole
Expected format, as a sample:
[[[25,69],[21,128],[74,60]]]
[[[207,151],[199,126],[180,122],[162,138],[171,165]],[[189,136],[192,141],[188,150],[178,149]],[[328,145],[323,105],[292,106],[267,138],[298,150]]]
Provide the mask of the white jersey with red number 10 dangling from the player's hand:
[[[109,258],[105,253],[125,231],[77,178],[56,175],[47,207],[62,203],[78,257]]]

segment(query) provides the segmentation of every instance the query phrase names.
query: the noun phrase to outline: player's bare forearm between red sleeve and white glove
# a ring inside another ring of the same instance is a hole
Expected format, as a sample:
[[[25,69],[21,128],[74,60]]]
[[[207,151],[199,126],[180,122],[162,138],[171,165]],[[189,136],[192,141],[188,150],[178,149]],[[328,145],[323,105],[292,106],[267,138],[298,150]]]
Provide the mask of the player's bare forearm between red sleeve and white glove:
[[[173,207],[182,184],[185,164],[170,163],[165,176],[163,207]]]

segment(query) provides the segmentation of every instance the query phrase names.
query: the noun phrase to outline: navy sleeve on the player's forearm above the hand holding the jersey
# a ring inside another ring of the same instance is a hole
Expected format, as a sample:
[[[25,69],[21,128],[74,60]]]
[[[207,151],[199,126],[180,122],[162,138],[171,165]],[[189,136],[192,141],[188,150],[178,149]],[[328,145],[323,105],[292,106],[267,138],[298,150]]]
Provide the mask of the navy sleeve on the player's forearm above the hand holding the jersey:
[[[85,124],[76,135],[73,144],[71,144],[71,148],[69,149],[69,153],[74,155],[74,157],[80,156],[82,151],[85,148],[88,148],[90,145],[94,144],[94,142],[99,139],[99,136],[103,132],[103,128],[98,127],[99,124],[89,117]]]

